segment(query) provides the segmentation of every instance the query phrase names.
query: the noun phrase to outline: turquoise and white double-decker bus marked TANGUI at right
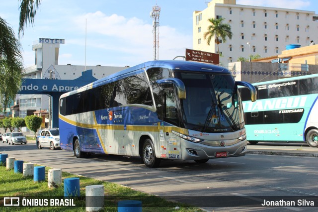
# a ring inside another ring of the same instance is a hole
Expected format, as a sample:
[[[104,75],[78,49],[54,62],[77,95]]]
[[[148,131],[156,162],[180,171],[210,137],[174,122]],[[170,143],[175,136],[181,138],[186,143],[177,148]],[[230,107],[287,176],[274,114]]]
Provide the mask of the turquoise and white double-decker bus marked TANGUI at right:
[[[257,102],[240,90],[247,140],[306,142],[318,147],[318,74],[253,84]]]

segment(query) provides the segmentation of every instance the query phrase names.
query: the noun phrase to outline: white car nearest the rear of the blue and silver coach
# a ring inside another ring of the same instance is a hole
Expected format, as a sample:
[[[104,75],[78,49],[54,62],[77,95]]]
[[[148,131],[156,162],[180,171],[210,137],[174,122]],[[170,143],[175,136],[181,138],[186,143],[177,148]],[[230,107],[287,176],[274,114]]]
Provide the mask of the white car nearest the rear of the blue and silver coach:
[[[58,128],[40,130],[36,136],[36,145],[38,149],[42,149],[42,147],[49,147],[51,150],[61,148],[60,130]]]

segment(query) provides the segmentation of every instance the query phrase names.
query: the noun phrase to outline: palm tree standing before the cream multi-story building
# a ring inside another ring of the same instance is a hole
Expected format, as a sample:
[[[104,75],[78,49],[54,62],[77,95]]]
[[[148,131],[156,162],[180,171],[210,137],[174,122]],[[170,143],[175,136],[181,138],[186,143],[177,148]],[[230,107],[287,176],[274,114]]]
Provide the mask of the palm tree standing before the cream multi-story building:
[[[208,31],[204,33],[203,37],[205,40],[207,40],[208,45],[210,45],[210,42],[212,40],[212,37],[214,37],[214,42],[218,45],[218,53],[219,51],[219,44],[220,39],[222,38],[223,42],[225,43],[227,41],[227,37],[232,39],[233,33],[231,32],[231,26],[230,24],[223,23],[223,20],[225,18],[209,18],[208,21],[211,23],[211,25],[208,26]]]

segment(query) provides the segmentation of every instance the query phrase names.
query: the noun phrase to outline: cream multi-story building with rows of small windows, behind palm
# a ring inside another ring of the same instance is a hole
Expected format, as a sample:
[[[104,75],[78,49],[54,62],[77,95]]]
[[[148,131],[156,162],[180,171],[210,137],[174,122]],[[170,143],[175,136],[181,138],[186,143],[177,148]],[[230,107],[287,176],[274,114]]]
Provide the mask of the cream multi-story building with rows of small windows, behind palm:
[[[236,0],[212,0],[202,11],[193,12],[193,49],[217,53],[212,37],[210,45],[204,33],[209,18],[225,18],[231,25],[232,39],[221,40],[220,62],[235,62],[239,57],[280,54],[288,44],[307,46],[318,42],[318,15],[314,11],[236,4]]]

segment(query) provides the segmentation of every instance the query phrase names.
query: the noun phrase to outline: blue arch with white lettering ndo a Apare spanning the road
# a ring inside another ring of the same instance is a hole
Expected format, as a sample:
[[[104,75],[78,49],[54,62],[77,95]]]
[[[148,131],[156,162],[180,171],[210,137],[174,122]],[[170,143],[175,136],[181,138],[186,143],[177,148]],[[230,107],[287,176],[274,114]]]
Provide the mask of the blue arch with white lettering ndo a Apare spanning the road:
[[[93,70],[87,70],[74,80],[23,79],[21,90],[18,94],[50,95],[52,97],[52,127],[59,127],[60,96],[96,81],[97,79],[92,75]]]

